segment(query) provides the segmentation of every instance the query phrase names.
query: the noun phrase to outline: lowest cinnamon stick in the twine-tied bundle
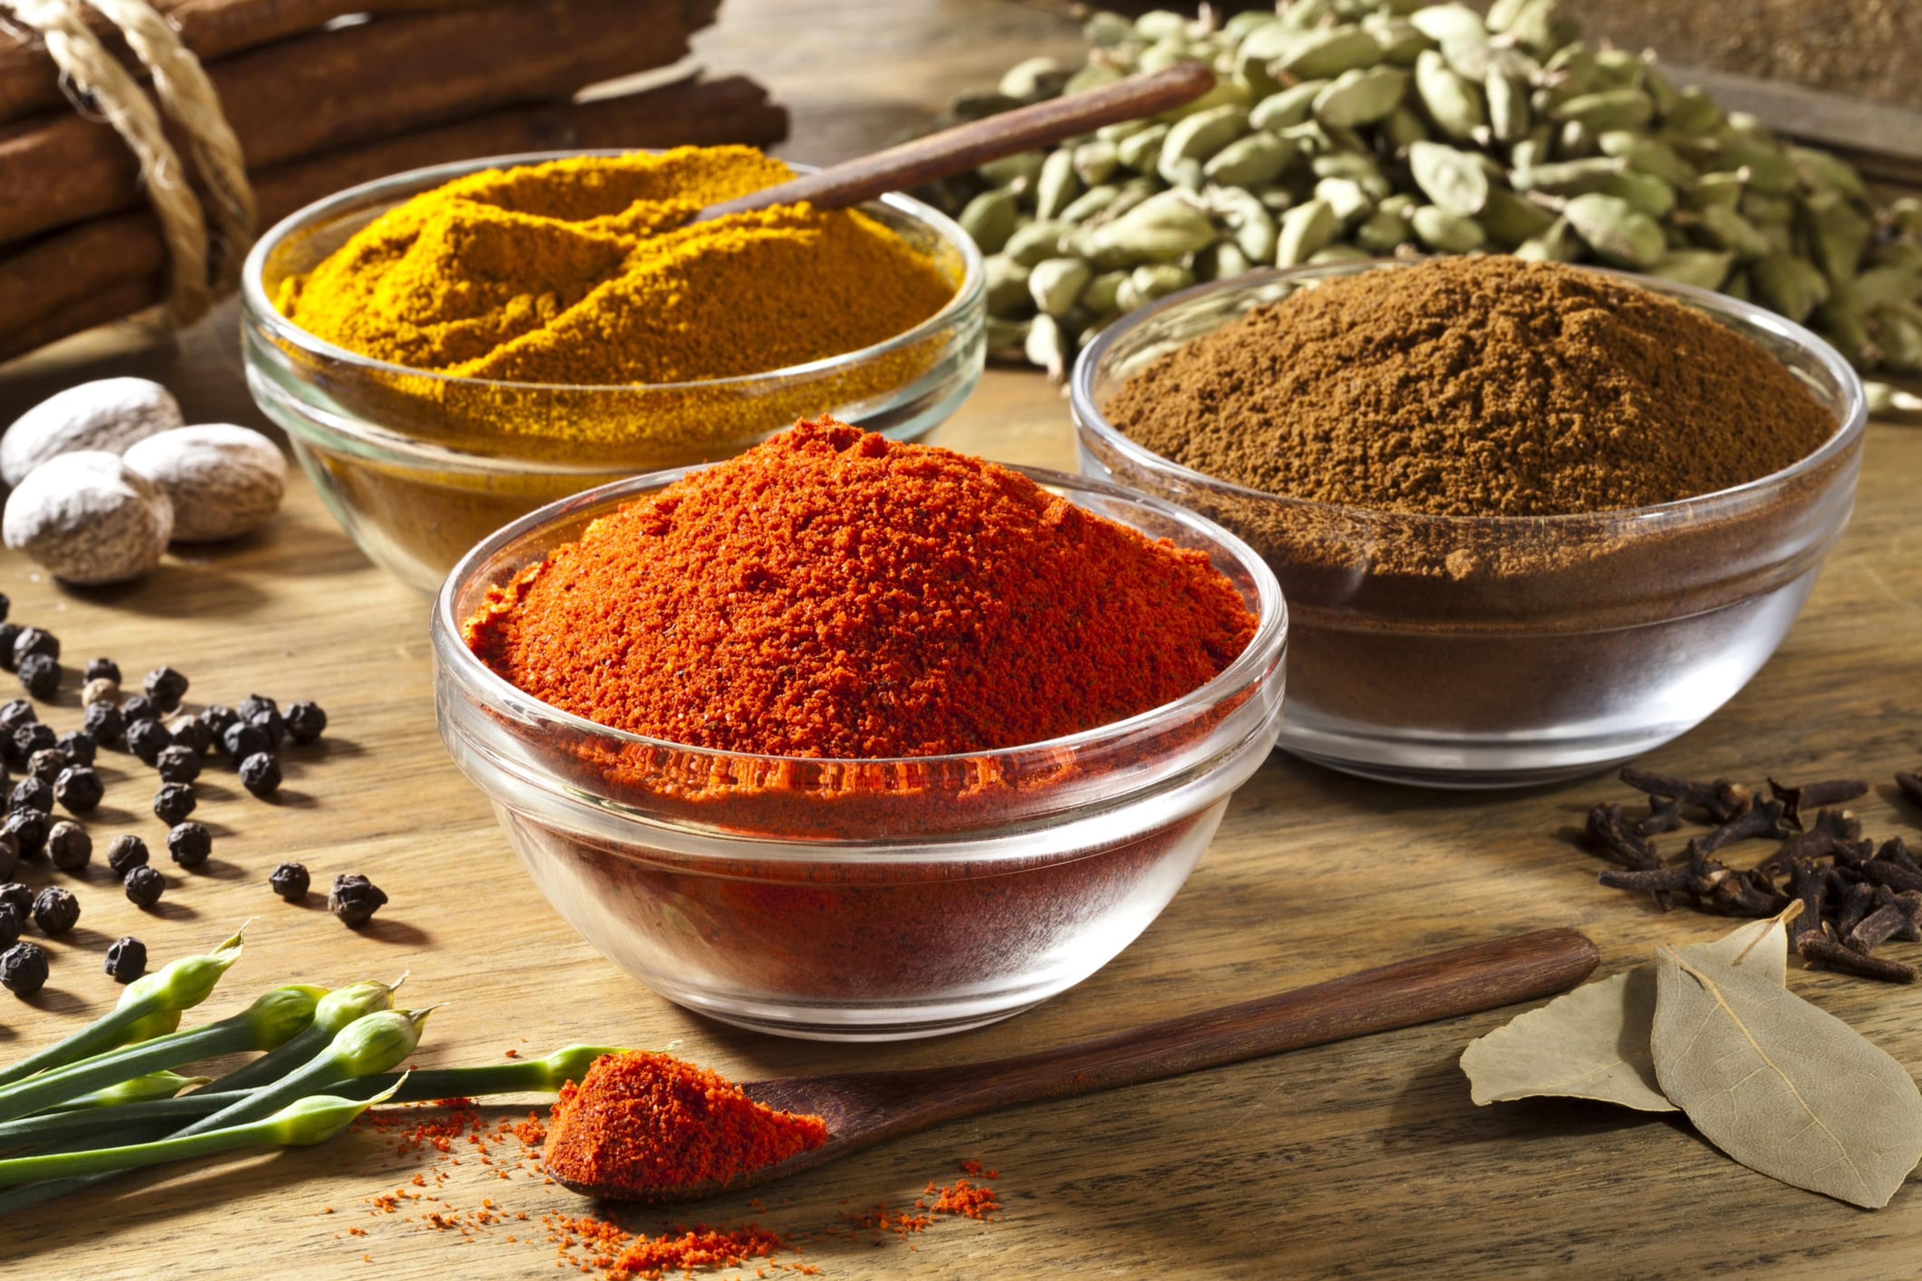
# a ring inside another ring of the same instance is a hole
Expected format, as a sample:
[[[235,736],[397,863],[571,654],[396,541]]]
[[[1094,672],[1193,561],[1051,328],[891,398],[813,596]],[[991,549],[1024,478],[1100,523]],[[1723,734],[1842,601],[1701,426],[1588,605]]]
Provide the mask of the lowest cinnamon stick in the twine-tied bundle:
[[[588,104],[492,111],[325,152],[256,175],[263,221],[404,169],[563,148],[678,146],[786,136],[788,113],[744,77],[682,81]],[[0,361],[131,315],[165,296],[167,248],[152,213],[113,213],[0,257]]]

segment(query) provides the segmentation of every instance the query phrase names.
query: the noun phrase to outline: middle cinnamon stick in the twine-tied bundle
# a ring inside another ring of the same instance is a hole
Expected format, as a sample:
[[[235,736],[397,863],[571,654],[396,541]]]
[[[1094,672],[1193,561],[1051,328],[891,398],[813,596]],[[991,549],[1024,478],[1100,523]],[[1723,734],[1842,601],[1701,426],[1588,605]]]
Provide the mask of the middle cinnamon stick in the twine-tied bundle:
[[[696,10],[700,19],[705,8]],[[678,61],[682,0],[509,0],[375,17],[208,63],[248,167],[573,94]],[[0,133],[0,244],[140,202],[119,134],[73,111]]]

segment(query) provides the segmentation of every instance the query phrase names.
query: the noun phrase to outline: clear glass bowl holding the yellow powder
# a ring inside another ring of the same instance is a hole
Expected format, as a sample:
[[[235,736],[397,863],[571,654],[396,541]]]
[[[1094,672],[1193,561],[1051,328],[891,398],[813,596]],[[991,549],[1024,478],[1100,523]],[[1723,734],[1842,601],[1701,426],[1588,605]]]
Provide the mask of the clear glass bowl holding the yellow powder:
[[[434,592],[486,534],[569,494],[725,459],[821,413],[913,440],[980,382],[980,252],[953,221],[892,192],[859,209],[930,257],[955,284],[955,296],[886,342],[761,375],[632,386],[454,378],[336,348],[273,305],[286,277],[309,271],[419,192],[490,167],[621,154],[538,152],[411,169],[288,215],[248,254],[240,328],[256,403],[286,428],[294,453],[354,542],[421,592]],[[646,442],[630,440],[636,423],[648,424]],[[525,424],[567,424],[584,440]]]

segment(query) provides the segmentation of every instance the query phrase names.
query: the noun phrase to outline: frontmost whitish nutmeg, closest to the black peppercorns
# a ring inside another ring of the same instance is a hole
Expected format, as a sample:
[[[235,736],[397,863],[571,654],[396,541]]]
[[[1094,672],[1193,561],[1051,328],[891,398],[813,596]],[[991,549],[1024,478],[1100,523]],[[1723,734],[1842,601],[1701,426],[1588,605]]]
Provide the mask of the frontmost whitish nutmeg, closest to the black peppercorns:
[[[0,534],[56,578],[125,582],[160,563],[173,538],[173,503],[115,453],[62,453],[8,495]]]

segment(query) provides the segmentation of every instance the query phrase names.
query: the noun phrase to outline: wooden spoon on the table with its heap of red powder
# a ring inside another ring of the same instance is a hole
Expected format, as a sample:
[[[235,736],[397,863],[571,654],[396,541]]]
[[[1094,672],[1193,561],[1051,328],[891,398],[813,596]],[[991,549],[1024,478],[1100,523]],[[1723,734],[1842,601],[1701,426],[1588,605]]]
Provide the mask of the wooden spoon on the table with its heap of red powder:
[[[667,1054],[609,1054],[567,1085],[546,1170],[607,1200],[698,1200],[784,1179],[938,1122],[1532,1001],[1599,960],[1540,930],[1019,1058],[734,1085]]]

